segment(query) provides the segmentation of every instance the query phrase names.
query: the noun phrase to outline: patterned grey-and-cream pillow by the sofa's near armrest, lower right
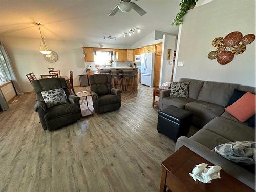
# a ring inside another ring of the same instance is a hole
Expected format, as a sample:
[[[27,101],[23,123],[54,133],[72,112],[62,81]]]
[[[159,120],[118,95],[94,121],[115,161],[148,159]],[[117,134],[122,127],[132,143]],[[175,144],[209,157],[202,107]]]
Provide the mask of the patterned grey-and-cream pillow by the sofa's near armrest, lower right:
[[[225,143],[214,148],[214,152],[241,165],[255,164],[255,143],[252,141],[236,141]]]

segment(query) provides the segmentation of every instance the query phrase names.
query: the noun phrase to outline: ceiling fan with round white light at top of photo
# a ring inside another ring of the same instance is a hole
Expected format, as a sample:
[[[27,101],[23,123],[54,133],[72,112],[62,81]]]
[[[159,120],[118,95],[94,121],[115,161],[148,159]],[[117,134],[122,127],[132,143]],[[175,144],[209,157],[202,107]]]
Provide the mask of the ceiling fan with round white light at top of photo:
[[[138,1],[138,0],[136,0]],[[140,6],[138,6],[136,3],[131,2],[131,0],[122,0],[121,2],[119,2],[119,4],[115,7],[115,9],[113,9],[113,11],[109,14],[109,16],[113,16],[117,13],[117,11],[119,11],[119,9],[124,12],[127,13],[129,11],[131,11],[132,9],[134,11],[136,11],[137,13],[140,14],[140,16],[146,14],[146,11],[143,10]]]

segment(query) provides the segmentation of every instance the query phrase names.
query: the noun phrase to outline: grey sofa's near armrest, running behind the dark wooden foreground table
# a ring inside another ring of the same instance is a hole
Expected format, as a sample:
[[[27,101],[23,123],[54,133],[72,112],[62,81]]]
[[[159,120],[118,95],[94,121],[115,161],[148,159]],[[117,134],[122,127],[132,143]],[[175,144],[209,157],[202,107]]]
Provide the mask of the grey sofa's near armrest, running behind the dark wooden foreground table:
[[[243,167],[223,158],[209,148],[185,136],[181,136],[177,140],[175,151],[177,151],[182,146],[186,146],[191,151],[200,155],[212,164],[219,165],[225,172],[238,179],[248,187],[255,189],[255,175]]]

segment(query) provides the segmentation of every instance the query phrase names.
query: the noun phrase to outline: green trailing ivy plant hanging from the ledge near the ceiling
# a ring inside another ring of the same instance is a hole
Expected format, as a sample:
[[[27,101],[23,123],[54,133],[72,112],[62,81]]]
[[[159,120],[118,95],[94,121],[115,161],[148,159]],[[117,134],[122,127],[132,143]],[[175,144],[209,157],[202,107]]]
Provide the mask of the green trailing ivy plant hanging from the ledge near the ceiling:
[[[193,9],[198,0],[182,0],[180,2],[180,12],[176,15],[172,25],[179,26],[183,22],[183,17],[189,9]]]

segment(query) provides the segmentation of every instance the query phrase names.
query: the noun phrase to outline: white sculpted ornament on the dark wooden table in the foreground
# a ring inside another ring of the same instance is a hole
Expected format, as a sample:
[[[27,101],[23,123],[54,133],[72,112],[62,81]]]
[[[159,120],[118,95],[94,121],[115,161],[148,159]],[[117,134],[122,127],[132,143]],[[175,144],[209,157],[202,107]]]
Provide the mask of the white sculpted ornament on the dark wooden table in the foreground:
[[[189,173],[191,177],[195,181],[200,181],[202,183],[211,183],[211,180],[214,179],[220,179],[220,170],[221,167],[218,165],[215,166],[209,166],[210,168],[206,168],[208,164],[201,163],[199,165],[196,165],[195,168],[193,168],[192,173]]]

